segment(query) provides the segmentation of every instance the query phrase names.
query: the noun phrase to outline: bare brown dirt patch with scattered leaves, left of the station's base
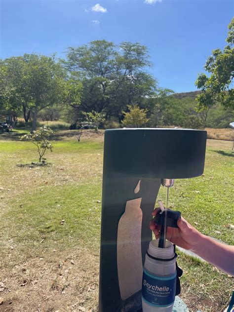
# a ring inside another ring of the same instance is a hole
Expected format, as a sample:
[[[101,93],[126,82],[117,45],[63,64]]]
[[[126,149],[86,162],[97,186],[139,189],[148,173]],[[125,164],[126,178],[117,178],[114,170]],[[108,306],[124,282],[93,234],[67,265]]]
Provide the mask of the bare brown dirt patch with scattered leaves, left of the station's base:
[[[81,247],[28,259],[1,271],[0,312],[97,312],[98,275],[99,254]]]

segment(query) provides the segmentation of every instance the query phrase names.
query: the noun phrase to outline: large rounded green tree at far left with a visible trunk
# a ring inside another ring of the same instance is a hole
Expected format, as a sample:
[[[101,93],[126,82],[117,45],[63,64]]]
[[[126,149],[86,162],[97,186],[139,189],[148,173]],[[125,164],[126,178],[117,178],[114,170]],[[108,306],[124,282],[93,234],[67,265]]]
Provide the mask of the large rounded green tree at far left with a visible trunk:
[[[11,57],[2,61],[1,71],[4,71],[5,108],[22,112],[26,122],[33,117],[32,130],[36,129],[41,110],[61,103],[79,103],[80,83],[67,78],[54,56]]]

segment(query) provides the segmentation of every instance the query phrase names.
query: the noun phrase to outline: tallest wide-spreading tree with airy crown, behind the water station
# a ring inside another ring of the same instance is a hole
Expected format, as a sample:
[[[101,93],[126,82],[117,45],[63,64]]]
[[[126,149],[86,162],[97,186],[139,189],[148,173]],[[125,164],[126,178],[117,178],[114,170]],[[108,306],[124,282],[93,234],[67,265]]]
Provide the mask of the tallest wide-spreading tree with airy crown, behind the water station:
[[[70,47],[64,64],[82,81],[80,105],[74,105],[78,112],[119,116],[127,105],[141,104],[156,90],[156,79],[147,72],[152,65],[147,48],[139,43],[96,40]]]

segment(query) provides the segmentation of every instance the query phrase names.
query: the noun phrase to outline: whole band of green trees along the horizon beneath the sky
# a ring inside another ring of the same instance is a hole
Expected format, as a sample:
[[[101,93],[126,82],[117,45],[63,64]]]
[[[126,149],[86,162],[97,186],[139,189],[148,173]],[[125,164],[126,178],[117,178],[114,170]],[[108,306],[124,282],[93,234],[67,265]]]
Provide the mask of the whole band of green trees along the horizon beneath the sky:
[[[23,116],[26,123],[33,120],[32,130],[37,117],[66,118],[76,127],[85,116],[92,122],[101,118],[106,127],[228,127],[234,105],[234,19],[227,42],[208,58],[209,77],[198,76],[201,91],[181,94],[157,86],[148,50],[139,43],[96,40],[68,48],[65,60],[36,54],[0,60],[1,119]]]

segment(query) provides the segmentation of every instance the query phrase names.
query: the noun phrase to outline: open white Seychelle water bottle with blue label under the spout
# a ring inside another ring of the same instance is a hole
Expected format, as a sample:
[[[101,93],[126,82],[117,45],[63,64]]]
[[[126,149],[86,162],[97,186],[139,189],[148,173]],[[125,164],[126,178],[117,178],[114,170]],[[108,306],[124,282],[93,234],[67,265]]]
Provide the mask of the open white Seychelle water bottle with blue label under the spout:
[[[165,248],[152,240],[146,254],[142,279],[142,311],[172,312],[176,292],[176,257],[174,246],[166,240]]]

